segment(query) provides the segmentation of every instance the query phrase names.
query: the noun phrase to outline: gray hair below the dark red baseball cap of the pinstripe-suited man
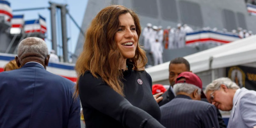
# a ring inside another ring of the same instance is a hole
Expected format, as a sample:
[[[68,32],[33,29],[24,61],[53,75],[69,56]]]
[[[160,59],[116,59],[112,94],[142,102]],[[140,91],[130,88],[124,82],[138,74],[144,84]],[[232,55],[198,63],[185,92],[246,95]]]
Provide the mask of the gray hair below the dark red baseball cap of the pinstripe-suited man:
[[[199,95],[201,95],[201,88],[198,86],[195,86],[193,84],[188,84],[188,83],[177,83],[173,86],[173,92],[177,95],[179,92],[185,92],[188,94],[193,93],[197,89],[197,92]]]

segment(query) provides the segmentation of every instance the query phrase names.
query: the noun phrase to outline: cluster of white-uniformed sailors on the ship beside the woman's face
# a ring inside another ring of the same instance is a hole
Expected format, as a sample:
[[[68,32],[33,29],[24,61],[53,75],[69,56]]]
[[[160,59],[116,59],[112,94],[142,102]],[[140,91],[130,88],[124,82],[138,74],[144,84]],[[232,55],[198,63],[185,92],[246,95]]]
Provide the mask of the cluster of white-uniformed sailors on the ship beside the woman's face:
[[[178,49],[185,46],[186,33],[193,32],[187,24],[177,24],[177,28],[163,29],[162,26],[152,26],[148,23],[143,29],[143,46],[146,52],[152,54],[154,65],[163,63],[163,49]]]

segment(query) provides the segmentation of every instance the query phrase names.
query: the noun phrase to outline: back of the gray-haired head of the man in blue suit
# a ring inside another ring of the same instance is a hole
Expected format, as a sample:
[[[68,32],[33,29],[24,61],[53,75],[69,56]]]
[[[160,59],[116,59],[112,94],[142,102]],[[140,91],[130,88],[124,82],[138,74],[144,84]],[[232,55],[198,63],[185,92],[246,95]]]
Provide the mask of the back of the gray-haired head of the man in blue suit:
[[[26,60],[38,60],[44,64],[48,54],[48,48],[45,41],[37,37],[29,37],[22,40],[18,46],[17,56],[20,64]]]

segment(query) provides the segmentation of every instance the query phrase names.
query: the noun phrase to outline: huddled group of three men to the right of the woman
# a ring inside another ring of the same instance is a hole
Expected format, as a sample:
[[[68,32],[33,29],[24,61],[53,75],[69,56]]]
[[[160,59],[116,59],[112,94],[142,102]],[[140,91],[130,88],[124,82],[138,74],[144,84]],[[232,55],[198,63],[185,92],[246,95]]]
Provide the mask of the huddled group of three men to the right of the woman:
[[[221,77],[209,83],[203,92],[200,77],[189,67],[184,58],[170,61],[170,88],[161,92],[161,97],[154,95],[159,99],[164,127],[255,127],[255,91],[239,88],[231,79]],[[219,109],[232,110],[228,126]]]

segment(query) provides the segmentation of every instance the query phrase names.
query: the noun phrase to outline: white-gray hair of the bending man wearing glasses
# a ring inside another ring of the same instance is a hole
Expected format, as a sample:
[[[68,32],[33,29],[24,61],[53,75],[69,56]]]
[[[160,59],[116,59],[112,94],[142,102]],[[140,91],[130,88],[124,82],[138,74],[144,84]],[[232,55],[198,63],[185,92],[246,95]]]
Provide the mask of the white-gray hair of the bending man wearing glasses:
[[[237,84],[234,83],[231,79],[229,79],[228,77],[221,77],[215,79],[214,81],[212,81],[212,83],[208,84],[205,88],[205,93],[207,93],[208,91],[219,90],[221,84],[224,84],[229,89],[239,89],[239,86],[237,86]]]

